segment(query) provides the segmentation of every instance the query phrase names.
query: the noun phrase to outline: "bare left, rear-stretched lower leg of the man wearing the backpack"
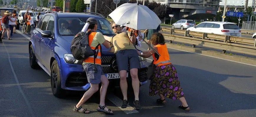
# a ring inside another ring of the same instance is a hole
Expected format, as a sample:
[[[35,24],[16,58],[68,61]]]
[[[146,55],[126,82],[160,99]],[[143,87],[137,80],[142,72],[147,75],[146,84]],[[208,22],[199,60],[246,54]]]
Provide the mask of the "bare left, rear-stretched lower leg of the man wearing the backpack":
[[[91,88],[84,93],[84,96],[82,99],[77,103],[76,107],[78,108],[79,106],[82,106],[85,101],[87,101],[92,95],[99,90],[99,84],[92,84],[91,83]]]

